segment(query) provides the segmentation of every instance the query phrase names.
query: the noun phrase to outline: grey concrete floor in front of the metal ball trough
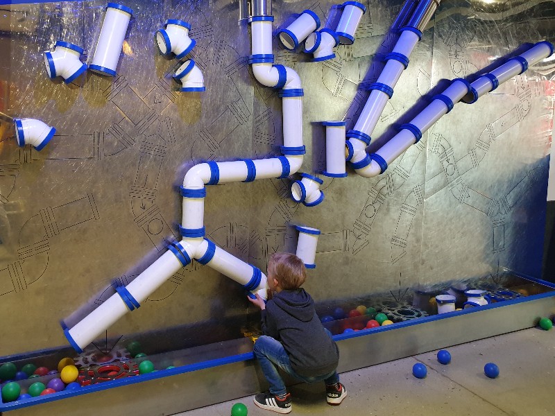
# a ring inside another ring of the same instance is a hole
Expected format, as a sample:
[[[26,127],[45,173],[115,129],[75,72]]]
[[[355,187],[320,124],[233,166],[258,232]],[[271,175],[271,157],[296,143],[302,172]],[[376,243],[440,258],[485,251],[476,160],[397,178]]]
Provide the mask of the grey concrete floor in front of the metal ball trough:
[[[552,416],[555,415],[555,329],[525,329],[447,348],[452,361],[438,363],[436,351],[341,374],[348,397],[341,406],[325,402],[323,385],[291,387],[290,415],[321,416]],[[412,375],[424,363],[425,379]],[[499,366],[488,379],[484,365]],[[230,416],[235,403],[249,416],[278,415],[257,408],[253,396],[198,408],[180,416]]]

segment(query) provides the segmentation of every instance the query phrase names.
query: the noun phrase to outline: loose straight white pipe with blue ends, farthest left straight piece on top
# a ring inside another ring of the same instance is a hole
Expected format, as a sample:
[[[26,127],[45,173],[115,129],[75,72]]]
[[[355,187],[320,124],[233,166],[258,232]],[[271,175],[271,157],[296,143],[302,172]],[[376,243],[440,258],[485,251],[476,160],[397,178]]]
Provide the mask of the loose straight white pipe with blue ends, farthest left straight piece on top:
[[[92,63],[89,65],[91,71],[102,73],[103,75],[116,76],[119,54],[123,47],[127,27],[133,10],[123,4],[108,3],[99,41],[96,42],[96,49]]]

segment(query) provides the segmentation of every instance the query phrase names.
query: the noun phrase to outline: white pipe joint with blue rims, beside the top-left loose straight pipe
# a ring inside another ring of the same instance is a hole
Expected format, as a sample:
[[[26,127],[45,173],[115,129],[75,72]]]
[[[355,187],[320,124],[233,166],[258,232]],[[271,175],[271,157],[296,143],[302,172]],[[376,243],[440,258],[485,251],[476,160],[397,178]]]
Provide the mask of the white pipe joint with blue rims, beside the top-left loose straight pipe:
[[[61,76],[66,84],[76,80],[87,71],[87,64],[79,60],[81,53],[83,48],[58,40],[53,51],[44,52],[44,65],[49,78]]]

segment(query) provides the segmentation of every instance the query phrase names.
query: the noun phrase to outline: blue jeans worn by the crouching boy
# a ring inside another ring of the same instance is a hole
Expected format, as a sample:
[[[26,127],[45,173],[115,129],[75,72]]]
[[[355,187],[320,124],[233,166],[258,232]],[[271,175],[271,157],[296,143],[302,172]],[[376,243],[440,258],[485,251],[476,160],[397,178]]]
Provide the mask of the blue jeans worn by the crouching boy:
[[[264,373],[266,380],[270,384],[270,392],[273,395],[277,396],[287,393],[287,389],[285,388],[285,384],[278,372],[278,368],[281,368],[284,372],[296,379],[305,381],[305,383],[315,383],[316,381],[322,380],[327,385],[339,383],[339,375],[335,370],[315,377],[304,377],[297,374],[291,367],[289,356],[287,355],[282,343],[275,340],[271,336],[260,336],[255,342],[253,352],[255,353],[255,357],[262,368],[262,372]]]

